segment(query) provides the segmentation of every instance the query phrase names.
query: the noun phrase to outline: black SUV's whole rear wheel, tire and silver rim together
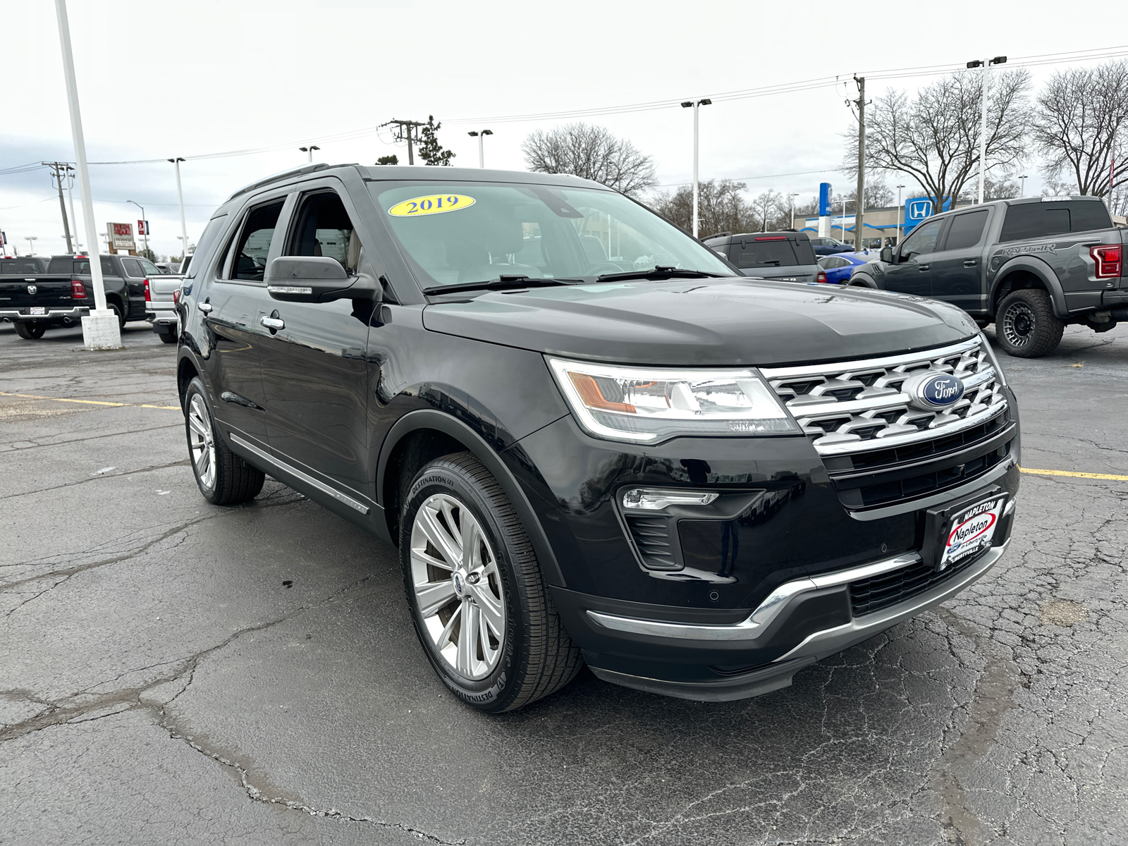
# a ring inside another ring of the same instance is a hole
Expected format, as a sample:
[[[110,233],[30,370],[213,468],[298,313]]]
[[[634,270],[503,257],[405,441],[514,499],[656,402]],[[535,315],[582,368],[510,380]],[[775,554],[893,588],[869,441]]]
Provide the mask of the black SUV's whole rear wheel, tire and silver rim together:
[[[235,505],[258,495],[266,476],[227,448],[199,376],[188,382],[184,394],[184,431],[192,473],[208,502]]]

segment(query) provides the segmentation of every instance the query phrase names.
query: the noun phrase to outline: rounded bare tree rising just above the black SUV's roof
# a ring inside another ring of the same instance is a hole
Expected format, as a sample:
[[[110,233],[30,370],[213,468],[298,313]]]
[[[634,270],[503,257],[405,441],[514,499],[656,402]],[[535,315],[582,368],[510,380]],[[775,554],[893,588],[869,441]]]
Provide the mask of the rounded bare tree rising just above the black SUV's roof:
[[[654,162],[605,126],[570,123],[537,130],[521,144],[529,169],[538,174],[572,174],[637,196],[658,184]]]

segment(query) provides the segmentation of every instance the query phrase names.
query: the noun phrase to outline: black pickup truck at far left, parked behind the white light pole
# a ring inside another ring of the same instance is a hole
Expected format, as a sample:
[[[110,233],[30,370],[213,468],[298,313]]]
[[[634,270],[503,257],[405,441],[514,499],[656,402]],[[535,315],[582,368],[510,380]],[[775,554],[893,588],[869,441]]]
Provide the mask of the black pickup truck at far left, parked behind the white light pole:
[[[15,259],[14,259],[15,261]],[[126,320],[143,320],[148,280],[138,258],[102,256],[106,306]],[[52,326],[79,323],[94,308],[90,259],[82,255],[54,256],[45,273],[0,275],[0,318],[16,324],[25,340],[43,337]]]

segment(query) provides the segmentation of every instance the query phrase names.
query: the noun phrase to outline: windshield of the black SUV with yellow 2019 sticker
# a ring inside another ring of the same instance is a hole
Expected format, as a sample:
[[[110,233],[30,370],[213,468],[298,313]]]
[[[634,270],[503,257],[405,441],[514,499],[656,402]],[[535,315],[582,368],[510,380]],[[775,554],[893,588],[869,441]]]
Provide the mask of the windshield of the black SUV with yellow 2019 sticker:
[[[713,250],[611,191],[477,182],[369,187],[423,288],[655,266],[733,275]]]

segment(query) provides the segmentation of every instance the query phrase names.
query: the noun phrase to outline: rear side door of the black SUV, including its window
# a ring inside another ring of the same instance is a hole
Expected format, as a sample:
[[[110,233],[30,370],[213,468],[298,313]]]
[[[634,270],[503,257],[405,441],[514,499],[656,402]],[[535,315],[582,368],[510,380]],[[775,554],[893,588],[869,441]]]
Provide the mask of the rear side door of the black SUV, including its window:
[[[245,439],[265,446],[266,399],[259,370],[262,345],[268,336],[261,318],[270,314],[267,262],[277,255],[282,233],[277,224],[287,203],[284,192],[267,194],[244,209],[228,235],[219,259],[201,268],[205,280],[202,303],[211,333],[215,397],[212,413]]]

